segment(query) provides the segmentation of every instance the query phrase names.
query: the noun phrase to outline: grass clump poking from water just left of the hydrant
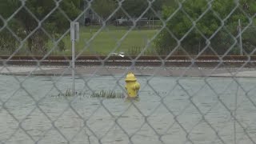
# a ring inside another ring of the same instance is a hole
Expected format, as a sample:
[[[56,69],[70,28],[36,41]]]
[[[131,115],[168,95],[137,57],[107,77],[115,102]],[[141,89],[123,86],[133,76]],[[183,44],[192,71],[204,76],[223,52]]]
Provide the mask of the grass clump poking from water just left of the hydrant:
[[[91,94],[90,98],[125,98],[125,96],[113,90],[101,90],[99,93]]]

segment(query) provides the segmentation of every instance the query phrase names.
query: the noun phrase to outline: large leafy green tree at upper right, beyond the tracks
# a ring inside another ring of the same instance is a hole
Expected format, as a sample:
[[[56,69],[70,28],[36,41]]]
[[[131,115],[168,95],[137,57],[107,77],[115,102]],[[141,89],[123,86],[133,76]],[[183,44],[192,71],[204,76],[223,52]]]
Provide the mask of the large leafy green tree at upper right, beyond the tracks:
[[[256,12],[256,2],[253,0],[239,2],[238,8],[235,8],[234,0],[215,0],[210,5],[205,0],[187,0],[180,1],[182,8],[178,7],[178,3],[166,6],[162,13],[163,18],[169,21],[166,23],[166,30],[155,40],[159,53],[169,54],[179,46],[189,54],[198,54],[198,47],[206,46],[207,40],[210,40],[218,54],[225,54],[237,36],[238,19],[246,26]],[[242,8],[246,3],[250,6],[248,10]],[[174,14],[176,10],[177,13]],[[171,16],[172,14],[174,15]],[[230,39],[230,42],[226,42],[226,39]],[[181,40],[180,45],[178,40]],[[212,51],[210,53],[213,54]]]

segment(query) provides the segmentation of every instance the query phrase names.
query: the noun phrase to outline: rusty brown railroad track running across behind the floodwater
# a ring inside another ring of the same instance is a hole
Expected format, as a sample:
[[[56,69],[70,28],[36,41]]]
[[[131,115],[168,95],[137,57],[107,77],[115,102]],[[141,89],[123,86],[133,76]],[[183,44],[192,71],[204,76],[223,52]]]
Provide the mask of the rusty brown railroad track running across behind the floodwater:
[[[9,66],[70,66],[71,57],[64,56],[0,56],[0,65]],[[80,56],[76,66],[245,66],[253,67],[256,56]]]

